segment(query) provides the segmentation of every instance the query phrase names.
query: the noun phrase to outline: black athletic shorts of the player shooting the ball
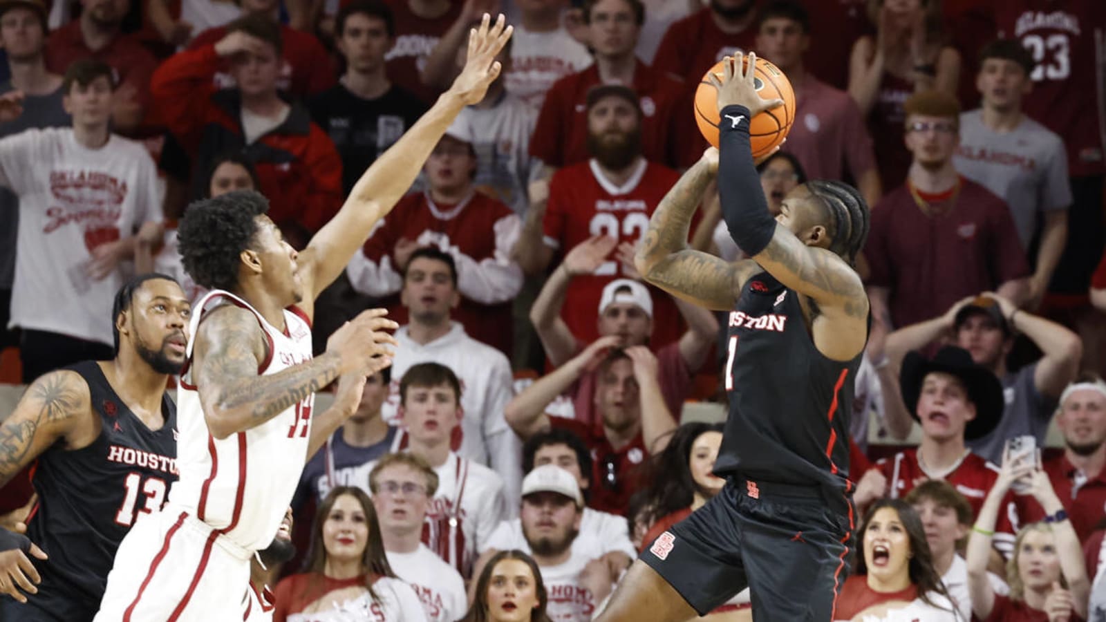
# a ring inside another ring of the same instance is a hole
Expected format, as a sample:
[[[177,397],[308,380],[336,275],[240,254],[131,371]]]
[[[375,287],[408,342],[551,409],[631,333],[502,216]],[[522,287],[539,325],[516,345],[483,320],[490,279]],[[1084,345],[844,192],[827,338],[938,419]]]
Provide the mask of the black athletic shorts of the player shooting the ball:
[[[848,499],[731,478],[641,560],[706,615],[750,589],[757,622],[830,622],[849,573]]]

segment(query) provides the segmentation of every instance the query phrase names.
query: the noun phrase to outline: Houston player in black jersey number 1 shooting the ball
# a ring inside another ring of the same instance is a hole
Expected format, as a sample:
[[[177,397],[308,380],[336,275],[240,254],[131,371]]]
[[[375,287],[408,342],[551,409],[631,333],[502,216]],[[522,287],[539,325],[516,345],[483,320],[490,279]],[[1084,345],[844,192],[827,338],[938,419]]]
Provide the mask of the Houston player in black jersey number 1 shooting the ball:
[[[636,257],[647,281],[730,310],[730,414],[714,464],[727,484],[649,545],[602,621],[687,620],[749,587],[758,622],[830,622],[848,576],[848,411],[869,320],[853,263],[868,208],[852,187],[810,182],[772,219],[749,120],[782,102],[761,100],[742,66],[741,54],[728,59],[724,80],[713,80],[720,149],[668,193]],[[688,249],[691,216],[716,174],[730,235],[752,259]]]

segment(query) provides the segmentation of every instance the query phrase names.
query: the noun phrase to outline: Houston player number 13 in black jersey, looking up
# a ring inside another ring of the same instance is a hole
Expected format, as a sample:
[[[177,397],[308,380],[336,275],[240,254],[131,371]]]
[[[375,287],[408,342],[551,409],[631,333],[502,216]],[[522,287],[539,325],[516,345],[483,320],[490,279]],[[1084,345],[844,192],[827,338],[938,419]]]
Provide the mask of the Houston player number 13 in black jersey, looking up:
[[[136,277],[115,297],[115,359],[40,376],[3,422],[0,485],[38,460],[39,502],[27,536],[0,530],[0,620],[96,614],[119,541],[177,479],[165,390],[185,362],[190,310],[171,277]]]

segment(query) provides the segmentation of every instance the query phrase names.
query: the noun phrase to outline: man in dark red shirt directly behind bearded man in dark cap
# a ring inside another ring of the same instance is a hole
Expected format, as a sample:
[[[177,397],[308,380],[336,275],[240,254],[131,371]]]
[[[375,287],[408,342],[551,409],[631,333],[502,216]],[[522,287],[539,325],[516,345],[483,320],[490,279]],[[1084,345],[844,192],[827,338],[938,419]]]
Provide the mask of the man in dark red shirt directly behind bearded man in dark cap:
[[[588,0],[583,17],[595,62],[553,83],[538,116],[530,153],[552,167],[586,160],[591,155],[584,107],[588,90],[597,84],[627,84],[640,102],[641,153],[653,162],[675,165],[678,138],[687,136],[674,132],[677,118],[688,116],[677,107],[684,89],[674,76],[649,68],[634,53],[645,7],[640,0]]]

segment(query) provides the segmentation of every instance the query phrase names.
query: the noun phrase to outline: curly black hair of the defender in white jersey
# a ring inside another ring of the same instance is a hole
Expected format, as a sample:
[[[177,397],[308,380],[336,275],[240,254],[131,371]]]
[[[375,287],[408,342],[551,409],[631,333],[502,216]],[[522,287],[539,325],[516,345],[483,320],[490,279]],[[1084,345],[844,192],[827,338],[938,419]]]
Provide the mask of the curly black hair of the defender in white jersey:
[[[208,289],[238,287],[239,258],[258,232],[255,217],[269,201],[253,190],[236,190],[188,206],[177,228],[180,261]]]

